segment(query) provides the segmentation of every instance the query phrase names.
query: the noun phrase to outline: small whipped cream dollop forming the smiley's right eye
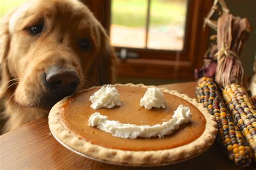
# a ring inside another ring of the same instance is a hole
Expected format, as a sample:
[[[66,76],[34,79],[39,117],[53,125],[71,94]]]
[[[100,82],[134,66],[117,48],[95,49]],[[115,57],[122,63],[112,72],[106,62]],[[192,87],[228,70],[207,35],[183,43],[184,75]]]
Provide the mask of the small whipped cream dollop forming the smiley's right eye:
[[[140,107],[145,109],[154,108],[166,108],[166,102],[164,100],[164,93],[158,88],[147,88],[146,93],[143,98],[140,100]]]

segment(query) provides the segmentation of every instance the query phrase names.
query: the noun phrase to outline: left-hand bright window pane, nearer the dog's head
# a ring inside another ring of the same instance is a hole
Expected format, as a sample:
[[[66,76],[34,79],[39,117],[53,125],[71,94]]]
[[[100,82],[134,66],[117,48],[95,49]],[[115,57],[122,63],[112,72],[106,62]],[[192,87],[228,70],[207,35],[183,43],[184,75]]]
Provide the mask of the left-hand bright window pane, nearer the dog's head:
[[[112,0],[110,38],[114,46],[145,48],[147,0]]]

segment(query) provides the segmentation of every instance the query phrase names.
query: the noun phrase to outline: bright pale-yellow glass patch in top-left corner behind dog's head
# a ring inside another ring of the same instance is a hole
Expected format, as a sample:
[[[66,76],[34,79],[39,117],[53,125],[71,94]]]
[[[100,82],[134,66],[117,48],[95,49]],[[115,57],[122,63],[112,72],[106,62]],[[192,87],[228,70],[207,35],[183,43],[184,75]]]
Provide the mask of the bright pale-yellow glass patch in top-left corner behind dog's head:
[[[9,10],[21,5],[26,0],[0,0],[0,18],[5,15]]]

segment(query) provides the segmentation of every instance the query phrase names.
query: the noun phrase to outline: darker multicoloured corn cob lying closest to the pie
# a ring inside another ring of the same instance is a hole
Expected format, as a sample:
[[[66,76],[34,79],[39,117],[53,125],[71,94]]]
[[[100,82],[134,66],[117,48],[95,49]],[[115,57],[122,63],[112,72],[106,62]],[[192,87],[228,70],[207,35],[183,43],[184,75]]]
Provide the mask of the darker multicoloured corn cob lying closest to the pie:
[[[250,165],[251,149],[238,126],[234,124],[213,80],[207,77],[199,79],[196,93],[198,102],[203,103],[210,114],[214,115],[218,124],[218,139],[225,147],[230,160],[240,167]]]

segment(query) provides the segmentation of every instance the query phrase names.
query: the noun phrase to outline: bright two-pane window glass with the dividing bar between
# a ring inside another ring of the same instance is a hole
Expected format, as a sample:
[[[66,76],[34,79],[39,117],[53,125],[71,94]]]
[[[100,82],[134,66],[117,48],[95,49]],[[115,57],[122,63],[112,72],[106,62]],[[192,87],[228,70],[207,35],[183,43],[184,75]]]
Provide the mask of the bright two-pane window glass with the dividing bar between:
[[[187,0],[113,0],[110,38],[124,48],[182,51]]]

